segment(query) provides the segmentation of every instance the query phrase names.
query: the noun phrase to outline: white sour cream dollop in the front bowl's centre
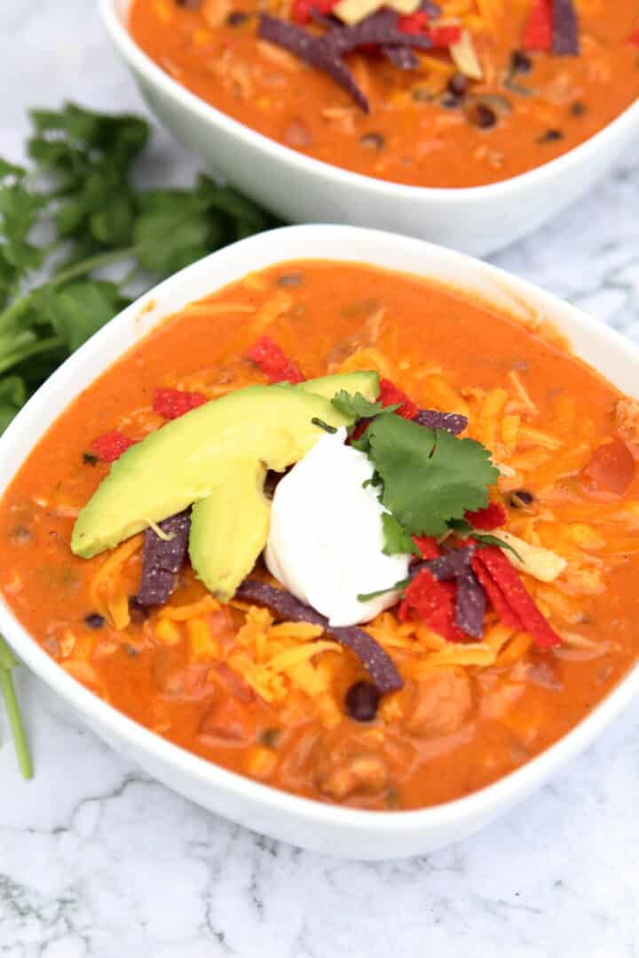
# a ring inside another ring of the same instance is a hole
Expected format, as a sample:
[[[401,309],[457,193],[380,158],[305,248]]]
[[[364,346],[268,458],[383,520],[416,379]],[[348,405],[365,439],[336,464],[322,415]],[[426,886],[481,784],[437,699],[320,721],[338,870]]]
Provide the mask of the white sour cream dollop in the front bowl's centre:
[[[373,465],[344,445],[346,429],[322,436],[275,490],[265,559],[269,571],[331,626],[369,622],[397,592],[360,602],[358,595],[405,579],[410,557],[385,556]]]

